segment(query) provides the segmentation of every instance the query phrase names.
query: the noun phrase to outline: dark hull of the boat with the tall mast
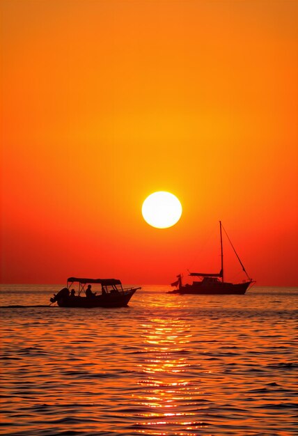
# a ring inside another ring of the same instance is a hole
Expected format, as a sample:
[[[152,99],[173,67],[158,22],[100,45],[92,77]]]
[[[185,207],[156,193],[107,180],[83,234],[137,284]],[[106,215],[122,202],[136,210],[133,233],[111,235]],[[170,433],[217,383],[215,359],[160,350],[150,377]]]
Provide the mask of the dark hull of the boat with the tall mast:
[[[244,283],[204,283],[204,281],[194,281],[191,285],[180,286],[173,290],[174,294],[194,294],[194,295],[243,295],[253,281]]]

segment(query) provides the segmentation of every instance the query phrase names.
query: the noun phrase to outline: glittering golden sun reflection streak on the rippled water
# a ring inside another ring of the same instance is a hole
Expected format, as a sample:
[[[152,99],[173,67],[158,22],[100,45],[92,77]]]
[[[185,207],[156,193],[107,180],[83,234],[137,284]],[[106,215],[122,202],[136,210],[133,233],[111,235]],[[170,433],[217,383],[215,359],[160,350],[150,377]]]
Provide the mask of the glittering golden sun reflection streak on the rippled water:
[[[139,432],[147,435],[191,436],[204,423],[195,421],[198,382],[189,379],[191,363],[187,359],[191,332],[185,320],[153,318],[143,328],[143,360],[139,364],[144,377],[139,380],[137,398],[144,412]],[[175,409],[178,409],[177,412]],[[154,430],[152,430],[152,427]],[[175,428],[175,433],[173,433]]]

